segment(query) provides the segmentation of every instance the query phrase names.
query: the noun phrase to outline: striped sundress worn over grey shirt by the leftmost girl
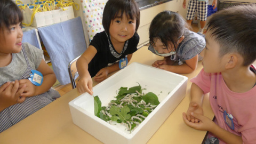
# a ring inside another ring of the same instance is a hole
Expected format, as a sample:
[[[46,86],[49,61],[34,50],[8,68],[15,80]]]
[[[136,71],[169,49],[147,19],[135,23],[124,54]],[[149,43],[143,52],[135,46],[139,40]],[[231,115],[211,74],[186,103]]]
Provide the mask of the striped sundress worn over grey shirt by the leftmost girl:
[[[27,53],[23,45],[22,52],[26,59],[27,69],[18,80],[27,79],[30,77],[29,74],[31,74],[31,67],[29,65]],[[2,86],[3,84],[0,84],[0,86]],[[50,89],[45,93],[35,95],[33,97],[27,97],[26,100],[22,103],[17,103],[15,105],[5,108],[3,111],[0,112],[0,132],[3,132],[12,125],[20,122],[22,119],[35,113],[37,110],[43,108],[44,106],[48,105],[59,97],[60,94],[57,91]]]

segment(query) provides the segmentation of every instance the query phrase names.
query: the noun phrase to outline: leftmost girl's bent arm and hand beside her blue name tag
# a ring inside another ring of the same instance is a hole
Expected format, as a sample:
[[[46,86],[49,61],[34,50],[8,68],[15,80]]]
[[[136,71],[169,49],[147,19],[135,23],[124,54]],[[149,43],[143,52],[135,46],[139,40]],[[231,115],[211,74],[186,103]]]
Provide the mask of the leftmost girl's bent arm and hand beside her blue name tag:
[[[42,59],[39,67],[36,69],[40,71],[43,75],[43,83],[40,86],[36,86],[29,81],[29,79],[21,79],[19,81],[20,87],[26,84],[25,91],[21,94],[23,97],[32,97],[34,95],[42,94],[49,89],[56,82],[56,76],[53,70],[47,65],[47,63]]]

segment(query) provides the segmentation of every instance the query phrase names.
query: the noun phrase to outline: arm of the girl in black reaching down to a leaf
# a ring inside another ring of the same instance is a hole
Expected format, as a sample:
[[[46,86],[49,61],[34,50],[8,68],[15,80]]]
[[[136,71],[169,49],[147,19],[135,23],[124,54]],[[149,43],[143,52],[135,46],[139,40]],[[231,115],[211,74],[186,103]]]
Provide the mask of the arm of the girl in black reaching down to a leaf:
[[[79,93],[88,92],[91,95],[93,94],[92,77],[88,71],[88,64],[91,62],[96,53],[97,49],[90,45],[76,62],[76,68],[80,77],[76,85]]]

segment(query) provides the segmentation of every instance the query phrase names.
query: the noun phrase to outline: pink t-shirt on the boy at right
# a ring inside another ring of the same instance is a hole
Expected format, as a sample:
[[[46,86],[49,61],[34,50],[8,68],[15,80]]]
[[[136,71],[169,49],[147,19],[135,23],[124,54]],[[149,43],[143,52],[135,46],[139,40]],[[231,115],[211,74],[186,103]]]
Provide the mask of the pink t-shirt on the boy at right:
[[[255,69],[255,68],[254,68]],[[239,135],[243,143],[256,143],[256,86],[250,91],[236,93],[227,87],[221,73],[201,72],[191,82],[199,86],[204,93],[210,92],[210,104],[217,123],[223,129]],[[224,116],[225,111],[227,115]],[[228,118],[233,117],[232,121]],[[227,123],[225,118],[228,119]],[[230,127],[228,126],[230,125]],[[219,139],[220,140],[220,139]],[[220,140],[220,143],[225,143]]]

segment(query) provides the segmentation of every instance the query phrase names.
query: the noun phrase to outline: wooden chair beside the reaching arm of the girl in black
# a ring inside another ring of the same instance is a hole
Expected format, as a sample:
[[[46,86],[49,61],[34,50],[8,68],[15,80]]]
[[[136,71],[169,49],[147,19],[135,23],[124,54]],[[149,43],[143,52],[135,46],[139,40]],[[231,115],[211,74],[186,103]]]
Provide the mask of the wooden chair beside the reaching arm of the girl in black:
[[[81,55],[79,55],[78,57],[76,57],[74,60],[71,60],[68,64],[68,73],[69,73],[69,77],[70,77],[70,81],[71,81],[71,85],[72,88],[75,89],[76,88],[76,78],[79,76],[78,75],[78,71],[76,69],[76,61],[77,59],[80,57]]]

